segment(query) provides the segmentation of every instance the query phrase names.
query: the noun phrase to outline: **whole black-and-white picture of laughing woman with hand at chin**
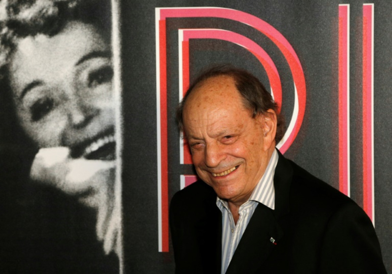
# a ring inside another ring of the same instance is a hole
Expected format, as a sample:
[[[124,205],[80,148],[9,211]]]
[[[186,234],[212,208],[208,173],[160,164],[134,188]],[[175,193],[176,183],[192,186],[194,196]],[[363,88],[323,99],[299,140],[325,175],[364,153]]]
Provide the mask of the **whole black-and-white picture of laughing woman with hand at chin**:
[[[0,270],[118,272],[110,13],[0,1]]]

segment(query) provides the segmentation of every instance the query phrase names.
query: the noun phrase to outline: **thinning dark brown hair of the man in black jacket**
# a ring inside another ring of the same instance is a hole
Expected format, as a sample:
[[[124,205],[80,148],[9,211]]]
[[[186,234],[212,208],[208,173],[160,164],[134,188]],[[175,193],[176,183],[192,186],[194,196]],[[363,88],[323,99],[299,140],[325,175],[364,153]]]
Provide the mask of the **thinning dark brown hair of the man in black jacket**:
[[[189,95],[204,81],[217,76],[229,76],[234,79],[236,88],[242,97],[242,103],[246,109],[250,110],[253,118],[258,114],[267,114],[267,111],[270,109],[274,110],[277,118],[275,141],[278,143],[285,133],[285,121],[283,115],[279,112],[278,104],[272,99],[272,96],[257,77],[247,70],[226,64],[204,70],[191,83],[176,110],[176,118],[180,130],[183,130],[183,111]]]

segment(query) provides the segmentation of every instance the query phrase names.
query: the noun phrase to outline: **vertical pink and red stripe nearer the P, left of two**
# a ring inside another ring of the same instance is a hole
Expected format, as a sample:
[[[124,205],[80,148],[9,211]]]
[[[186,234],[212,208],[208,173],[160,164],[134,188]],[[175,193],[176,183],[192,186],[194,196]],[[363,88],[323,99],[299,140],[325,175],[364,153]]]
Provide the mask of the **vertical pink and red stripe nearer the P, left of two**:
[[[349,195],[348,20],[349,6],[339,5],[339,190]]]

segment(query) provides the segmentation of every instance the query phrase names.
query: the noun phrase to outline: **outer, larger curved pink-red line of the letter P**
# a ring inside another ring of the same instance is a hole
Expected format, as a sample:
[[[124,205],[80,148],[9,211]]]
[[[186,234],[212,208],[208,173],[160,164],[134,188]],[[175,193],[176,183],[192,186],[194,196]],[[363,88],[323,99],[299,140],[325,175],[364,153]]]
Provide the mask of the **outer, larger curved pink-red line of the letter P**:
[[[249,13],[237,11],[234,9],[220,7],[160,8],[160,20],[165,20],[166,18],[170,17],[216,17],[235,20],[254,27],[265,36],[270,38],[270,40],[272,40],[278,46],[289,64],[294,79],[294,85],[296,86],[298,92],[298,117],[293,131],[291,132],[285,144],[283,144],[281,147],[281,152],[285,153],[299,132],[299,128],[301,127],[303,116],[305,114],[306,104],[305,76],[303,74],[303,69],[299,58],[294,49],[291,47],[289,41],[287,41],[286,38],[269,23]]]

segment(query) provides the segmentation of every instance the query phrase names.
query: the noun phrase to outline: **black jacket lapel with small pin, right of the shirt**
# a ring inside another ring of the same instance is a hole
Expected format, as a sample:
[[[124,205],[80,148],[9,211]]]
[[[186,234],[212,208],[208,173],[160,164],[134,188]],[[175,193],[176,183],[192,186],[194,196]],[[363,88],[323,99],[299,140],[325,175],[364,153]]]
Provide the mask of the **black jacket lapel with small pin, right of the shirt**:
[[[278,154],[279,160],[274,174],[275,210],[258,204],[234,252],[226,274],[241,273],[244,270],[247,273],[256,272],[276,248],[276,245],[272,243],[273,240],[279,243],[283,237],[279,222],[289,213],[292,168],[279,151]]]

